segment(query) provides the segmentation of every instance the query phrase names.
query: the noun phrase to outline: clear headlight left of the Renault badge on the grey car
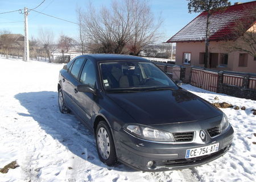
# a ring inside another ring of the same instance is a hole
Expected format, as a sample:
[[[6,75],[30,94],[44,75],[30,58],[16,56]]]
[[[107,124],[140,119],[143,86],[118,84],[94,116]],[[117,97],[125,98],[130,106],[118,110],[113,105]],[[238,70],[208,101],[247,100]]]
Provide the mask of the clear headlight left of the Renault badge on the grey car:
[[[166,131],[160,131],[148,126],[142,125],[126,125],[125,130],[136,137],[154,140],[160,142],[174,142],[172,134]]]

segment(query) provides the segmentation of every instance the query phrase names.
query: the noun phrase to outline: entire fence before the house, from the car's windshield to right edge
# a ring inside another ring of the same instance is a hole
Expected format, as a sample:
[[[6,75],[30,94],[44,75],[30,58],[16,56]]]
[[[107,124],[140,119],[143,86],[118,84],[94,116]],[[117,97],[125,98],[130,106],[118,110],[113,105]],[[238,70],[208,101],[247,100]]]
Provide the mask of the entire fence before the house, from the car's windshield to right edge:
[[[156,63],[173,80],[181,80],[211,92],[256,100],[256,74],[219,71],[201,67]]]

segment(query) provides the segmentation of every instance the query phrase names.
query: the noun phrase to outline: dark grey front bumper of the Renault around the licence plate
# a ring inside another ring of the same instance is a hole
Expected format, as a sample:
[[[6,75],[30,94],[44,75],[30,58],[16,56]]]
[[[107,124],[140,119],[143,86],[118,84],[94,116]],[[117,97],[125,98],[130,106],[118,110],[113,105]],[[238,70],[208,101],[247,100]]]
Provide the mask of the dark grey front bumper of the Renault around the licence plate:
[[[214,159],[220,158],[230,148],[233,140],[234,130],[230,125],[228,129],[210,138],[206,142],[188,143],[155,143],[135,138],[126,131],[114,131],[115,147],[117,158],[121,163],[126,164],[139,171],[167,171],[174,169],[192,168],[201,166]],[[213,154],[197,158],[185,159],[186,150],[189,148],[208,146],[219,142],[219,150]],[[154,161],[151,168],[147,167],[149,161]]]

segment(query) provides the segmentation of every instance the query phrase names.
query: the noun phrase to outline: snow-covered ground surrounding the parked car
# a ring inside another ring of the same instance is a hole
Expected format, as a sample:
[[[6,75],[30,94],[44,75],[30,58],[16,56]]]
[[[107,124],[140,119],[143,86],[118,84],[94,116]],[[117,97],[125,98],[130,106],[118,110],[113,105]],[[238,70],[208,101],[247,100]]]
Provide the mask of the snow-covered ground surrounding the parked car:
[[[182,171],[139,172],[98,159],[91,133],[57,106],[61,64],[0,59],[0,168],[16,160],[20,167],[0,173],[0,181],[255,181],[256,101],[183,85],[216,102],[245,106],[222,109],[235,134],[230,151],[209,164]]]

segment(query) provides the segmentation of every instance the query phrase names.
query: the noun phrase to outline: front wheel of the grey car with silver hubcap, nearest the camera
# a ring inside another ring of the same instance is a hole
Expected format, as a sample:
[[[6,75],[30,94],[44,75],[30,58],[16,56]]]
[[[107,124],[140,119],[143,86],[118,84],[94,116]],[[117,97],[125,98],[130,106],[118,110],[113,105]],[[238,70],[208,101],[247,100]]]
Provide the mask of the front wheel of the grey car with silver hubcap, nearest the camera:
[[[100,121],[98,123],[95,138],[97,152],[101,162],[108,166],[114,166],[117,164],[114,140],[108,123],[105,121]]]

